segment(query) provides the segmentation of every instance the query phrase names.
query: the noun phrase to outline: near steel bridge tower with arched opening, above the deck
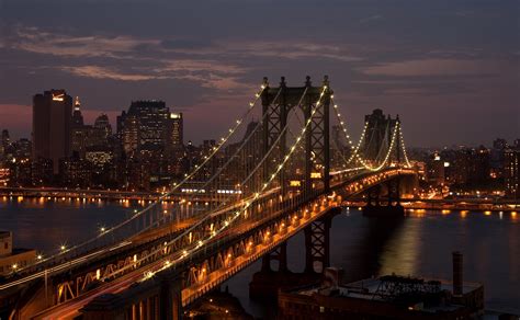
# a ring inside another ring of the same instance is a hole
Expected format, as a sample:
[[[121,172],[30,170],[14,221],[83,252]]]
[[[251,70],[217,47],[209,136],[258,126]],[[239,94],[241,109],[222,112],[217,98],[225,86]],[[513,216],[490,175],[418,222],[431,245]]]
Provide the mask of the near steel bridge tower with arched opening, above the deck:
[[[304,124],[312,117],[312,122],[305,135],[305,171],[304,194],[310,196],[316,190],[328,191],[330,187],[330,145],[329,145],[329,106],[332,90],[329,88],[328,77],[324,77],[321,87],[313,87],[310,77],[306,77],[304,87],[287,87],[285,77],[281,78],[280,87],[269,85],[268,78],[263,78],[262,116],[263,122],[263,153],[276,144],[280,137],[279,148],[272,155],[269,163],[278,163],[286,152],[286,132],[283,130],[287,124],[289,113],[293,107],[299,108],[304,114]],[[325,91],[324,91],[324,88]],[[279,92],[280,91],[280,92]],[[316,105],[321,92],[321,103]],[[313,110],[316,110],[312,116]],[[272,164],[265,167],[265,176],[273,171]],[[286,186],[284,174],[281,175],[281,187]],[[319,182],[319,183],[318,183]]]

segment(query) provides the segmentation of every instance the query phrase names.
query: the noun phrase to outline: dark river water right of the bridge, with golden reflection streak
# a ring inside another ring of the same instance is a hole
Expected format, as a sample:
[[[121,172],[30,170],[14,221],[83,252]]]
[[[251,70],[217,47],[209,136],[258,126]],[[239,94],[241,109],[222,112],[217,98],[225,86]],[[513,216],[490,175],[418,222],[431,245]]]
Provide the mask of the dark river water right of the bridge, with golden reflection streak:
[[[520,313],[520,221],[512,213],[414,210],[404,219],[363,217],[357,208],[337,216],[330,233],[331,265],[344,281],[402,274],[451,279],[452,251],[464,254],[464,279],[485,287],[486,308]],[[304,267],[303,233],[287,244],[289,267]],[[257,317],[269,307],[248,297],[248,284],[260,270],[256,262],[225,285]]]

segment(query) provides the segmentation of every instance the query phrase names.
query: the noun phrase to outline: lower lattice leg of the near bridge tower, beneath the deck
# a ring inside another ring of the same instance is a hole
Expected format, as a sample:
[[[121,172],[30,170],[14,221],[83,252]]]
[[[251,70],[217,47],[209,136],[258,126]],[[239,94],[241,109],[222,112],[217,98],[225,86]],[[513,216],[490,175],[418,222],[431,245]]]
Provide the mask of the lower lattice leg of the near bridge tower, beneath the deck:
[[[330,225],[331,217],[326,216],[305,228],[305,273],[321,273],[330,266]],[[320,270],[315,270],[315,263]]]

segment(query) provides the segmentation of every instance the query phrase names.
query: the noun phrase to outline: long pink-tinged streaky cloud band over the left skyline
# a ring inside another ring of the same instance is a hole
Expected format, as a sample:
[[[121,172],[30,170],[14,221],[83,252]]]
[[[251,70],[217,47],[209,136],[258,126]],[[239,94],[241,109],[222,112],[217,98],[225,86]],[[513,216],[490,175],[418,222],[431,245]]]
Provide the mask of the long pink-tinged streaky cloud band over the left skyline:
[[[14,39],[11,37],[7,45],[14,50],[45,57],[46,68],[76,77],[114,81],[177,79],[222,91],[250,87],[244,78],[255,69],[249,66],[251,58],[261,61],[260,65],[281,58],[361,60],[344,47],[314,42],[74,36],[20,25],[14,30],[16,36]],[[54,59],[54,67],[48,57],[58,57]]]

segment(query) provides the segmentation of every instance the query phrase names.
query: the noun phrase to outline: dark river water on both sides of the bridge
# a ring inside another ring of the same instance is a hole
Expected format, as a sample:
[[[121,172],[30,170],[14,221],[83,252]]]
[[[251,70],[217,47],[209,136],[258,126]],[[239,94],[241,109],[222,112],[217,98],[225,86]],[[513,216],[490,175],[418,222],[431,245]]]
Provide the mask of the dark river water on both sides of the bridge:
[[[14,232],[16,247],[45,252],[69,239],[95,235],[131,215],[136,203],[3,201],[0,228]],[[304,245],[299,233],[289,243],[289,266],[303,270]],[[344,209],[331,229],[331,264],[343,267],[346,281],[395,272],[404,275],[451,278],[451,252],[464,253],[466,281],[485,285],[486,307],[519,312],[520,219],[510,213],[414,212],[407,218],[369,219],[357,208]],[[248,298],[248,284],[260,268],[257,262],[228,285],[255,316],[264,308]]]

